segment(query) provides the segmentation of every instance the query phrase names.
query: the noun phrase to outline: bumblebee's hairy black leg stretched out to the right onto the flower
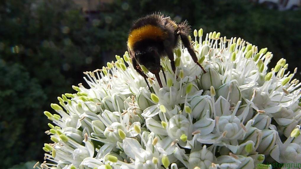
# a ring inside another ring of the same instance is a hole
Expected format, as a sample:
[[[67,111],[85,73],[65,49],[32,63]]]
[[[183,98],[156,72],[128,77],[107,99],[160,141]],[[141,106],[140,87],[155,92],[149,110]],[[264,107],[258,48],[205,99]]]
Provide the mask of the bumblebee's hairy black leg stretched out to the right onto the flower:
[[[205,69],[203,68],[203,66],[200,65],[199,62],[197,62],[197,55],[195,54],[195,51],[194,51],[193,47],[191,46],[190,41],[189,41],[189,38],[188,38],[189,32],[190,32],[190,26],[188,25],[188,23],[187,23],[186,21],[185,21],[185,22],[182,22],[182,23],[180,23],[180,24],[178,25],[178,32],[177,32],[177,34],[180,35],[184,47],[187,48],[188,53],[190,54],[192,60],[193,60],[197,65],[200,66],[200,68],[203,70],[204,73],[206,73],[206,71],[205,71]]]

